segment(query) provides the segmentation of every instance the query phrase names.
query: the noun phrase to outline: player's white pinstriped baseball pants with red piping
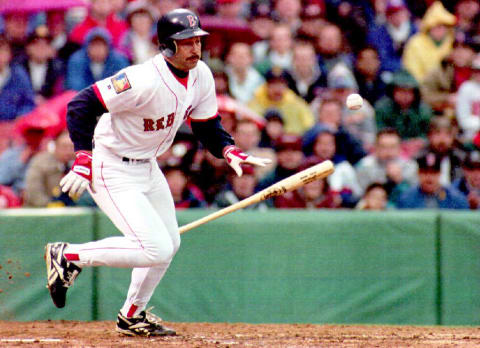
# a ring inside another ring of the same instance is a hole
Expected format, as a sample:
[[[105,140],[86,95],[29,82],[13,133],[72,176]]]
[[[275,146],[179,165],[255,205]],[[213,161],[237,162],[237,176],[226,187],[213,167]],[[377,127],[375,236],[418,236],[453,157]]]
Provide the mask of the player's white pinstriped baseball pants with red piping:
[[[124,162],[104,149],[95,149],[92,168],[90,193],[123,236],[70,244],[65,253],[78,254],[75,264],[80,267],[133,268],[121,312],[137,315],[145,309],[180,247],[173,198],[153,159]]]

